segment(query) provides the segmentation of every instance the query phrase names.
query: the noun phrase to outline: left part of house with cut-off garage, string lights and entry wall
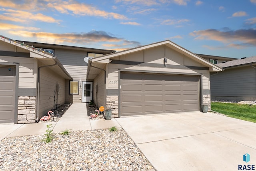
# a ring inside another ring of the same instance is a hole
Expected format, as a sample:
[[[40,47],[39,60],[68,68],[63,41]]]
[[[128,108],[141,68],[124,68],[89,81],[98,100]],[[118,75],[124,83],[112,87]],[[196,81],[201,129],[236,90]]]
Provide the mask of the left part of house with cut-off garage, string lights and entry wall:
[[[82,93],[92,84],[84,57],[112,52],[0,36],[0,123],[34,123],[56,105],[92,99]]]

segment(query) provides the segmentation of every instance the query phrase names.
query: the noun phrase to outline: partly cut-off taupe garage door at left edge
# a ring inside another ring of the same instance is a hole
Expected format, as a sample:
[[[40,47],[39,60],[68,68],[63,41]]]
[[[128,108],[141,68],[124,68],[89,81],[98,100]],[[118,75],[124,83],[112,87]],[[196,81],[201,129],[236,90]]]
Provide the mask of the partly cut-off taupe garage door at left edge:
[[[14,122],[15,67],[0,66],[0,123]]]

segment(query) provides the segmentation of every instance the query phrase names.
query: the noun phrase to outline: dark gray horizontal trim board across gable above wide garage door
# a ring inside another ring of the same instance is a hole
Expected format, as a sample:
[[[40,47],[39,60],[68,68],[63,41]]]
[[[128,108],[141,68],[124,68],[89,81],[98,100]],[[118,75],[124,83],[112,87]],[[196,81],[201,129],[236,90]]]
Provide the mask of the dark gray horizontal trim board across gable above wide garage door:
[[[157,67],[162,68],[164,64],[153,64],[144,62],[134,62],[134,61],[120,61],[112,60],[110,64],[120,64],[120,65],[132,65],[132,66],[146,66],[146,67]],[[198,67],[198,66],[179,66],[179,65],[166,65],[164,68],[174,68],[182,70],[209,70],[208,67]]]

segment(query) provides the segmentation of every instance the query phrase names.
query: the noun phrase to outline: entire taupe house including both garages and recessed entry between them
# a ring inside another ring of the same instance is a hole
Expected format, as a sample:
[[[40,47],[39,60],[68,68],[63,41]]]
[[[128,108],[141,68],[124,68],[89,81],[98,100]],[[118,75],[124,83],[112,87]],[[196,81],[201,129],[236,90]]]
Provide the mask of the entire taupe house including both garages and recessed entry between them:
[[[210,110],[210,73],[220,71],[169,40],[115,52],[1,36],[0,123],[34,123],[90,100],[112,117]]]

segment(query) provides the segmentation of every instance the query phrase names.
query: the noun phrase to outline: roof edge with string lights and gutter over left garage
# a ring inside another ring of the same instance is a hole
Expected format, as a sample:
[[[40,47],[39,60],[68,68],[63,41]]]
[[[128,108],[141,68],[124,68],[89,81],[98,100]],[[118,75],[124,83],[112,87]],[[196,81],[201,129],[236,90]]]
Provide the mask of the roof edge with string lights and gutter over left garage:
[[[44,52],[41,49],[34,48],[33,46],[29,46],[27,44],[24,44],[24,42],[21,43],[21,42],[18,42],[17,40],[12,40],[12,39],[4,37],[2,35],[0,35],[0,41],[8,42],[8,43],[10,43],[14,46],[17,46],[17,47],[20,47],[20,48],[23,48],[25,50],[30,51],[30,58],[37,58],[38,60],[46,60],[46,59],[53,60],[54,62],[56,62],[56,66],[54,66],[54,69],[56,70],[56,73],[62,75],[66,79],[73,80],[72,76],[70,76],[70,74],[62,66],[60,61],[55,56],[53,56],[52,54],[50,54],[48,52]],[[65,74],[65,75],[63,75],[63,74]]]

